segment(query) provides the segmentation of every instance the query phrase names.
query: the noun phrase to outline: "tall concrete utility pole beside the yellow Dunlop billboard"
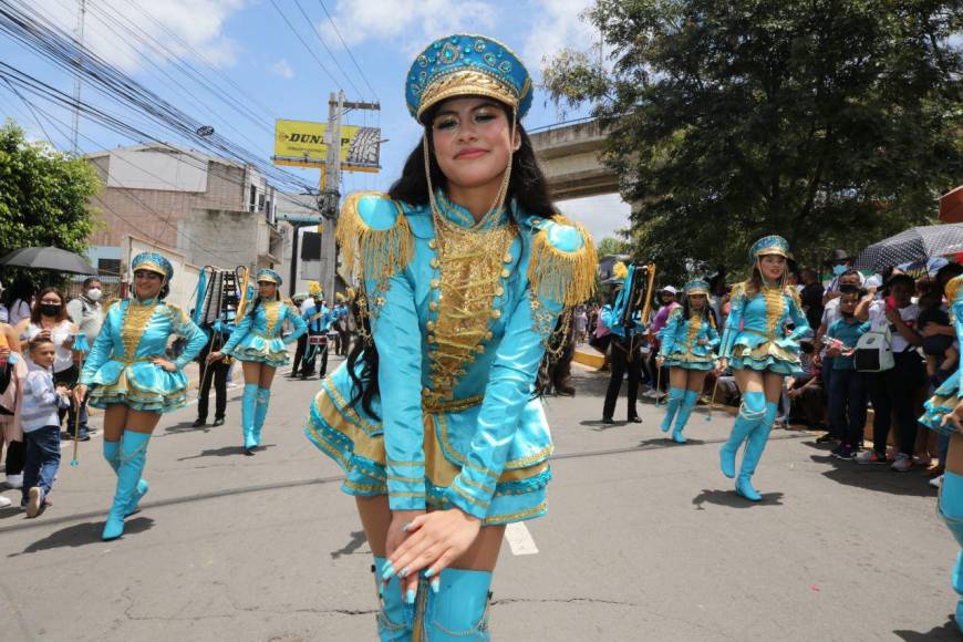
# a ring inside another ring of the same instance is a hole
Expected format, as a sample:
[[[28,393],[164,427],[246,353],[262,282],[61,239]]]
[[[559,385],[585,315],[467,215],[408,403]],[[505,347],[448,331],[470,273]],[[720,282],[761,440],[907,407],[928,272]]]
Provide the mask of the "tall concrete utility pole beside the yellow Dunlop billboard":
[[[338,210],[341,200],[341,116],[344,110],[381,108],[379,103],[345,102],[344,92],[333,92],[328,99],[328,159],[321,172],[321,194],[318,197],[318,208],[321,210],[321,275],[319,282],[324,290],[329,304],[334,303],[334,288],[338,273],[338,246],[334,242],[334,226],[338,221]]]

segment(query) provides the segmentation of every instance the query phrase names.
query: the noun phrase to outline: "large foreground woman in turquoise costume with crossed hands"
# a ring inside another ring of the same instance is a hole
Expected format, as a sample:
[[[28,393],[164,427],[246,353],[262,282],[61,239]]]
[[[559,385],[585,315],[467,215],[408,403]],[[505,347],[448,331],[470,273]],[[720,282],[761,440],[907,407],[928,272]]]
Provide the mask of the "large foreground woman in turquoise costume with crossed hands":
[[[546,512],[551,437],[535,391],[559,317],[594,283],[589,236],[548,197],[518,120],[531,81],[505,45],[456,34],[406,82],[425,127],[387,195],[346,200],[362,341],[306,428],[346,474],[382,640],[487,640],[506,524]]]

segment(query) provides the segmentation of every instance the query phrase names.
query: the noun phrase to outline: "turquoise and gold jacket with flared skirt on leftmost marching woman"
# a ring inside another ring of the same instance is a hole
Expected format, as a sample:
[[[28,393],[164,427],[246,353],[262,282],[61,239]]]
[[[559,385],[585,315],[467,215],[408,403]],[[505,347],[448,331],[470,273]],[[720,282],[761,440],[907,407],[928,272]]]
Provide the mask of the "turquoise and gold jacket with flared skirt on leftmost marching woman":
[[[170,335],[187,340],[174,360],[175,372],[151,359],[166,358]],[[137,411],[166,413],[184,405],[187,379],[183,369],[207,343],[207,335],[184,310],[158,299],[125,299],[104,314],[101,332],[84,362],[80,383],[91,386],[90,404],[123,403]]]

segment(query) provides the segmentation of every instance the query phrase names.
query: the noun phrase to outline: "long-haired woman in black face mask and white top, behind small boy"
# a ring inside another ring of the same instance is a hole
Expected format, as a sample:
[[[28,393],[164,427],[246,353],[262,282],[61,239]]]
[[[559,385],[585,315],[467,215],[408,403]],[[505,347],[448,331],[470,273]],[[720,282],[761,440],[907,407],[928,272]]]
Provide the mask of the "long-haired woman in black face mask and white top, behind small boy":
[[[34,338],[42,336],[53,341],[56,351],[56,359],[53,362],[53,382],[56,385],[72,387],[80,375],[73,359],[73,338],[77,333],[77,327],[68,317],[66,299],[56,288],[44,288],[37,294],[35,301],[30,318],[24,319],[17,327],[21,338],[20,349],[24,355],[29,355],[28,346]],[[61,421],[65,414],[66,410],[62,408]]]

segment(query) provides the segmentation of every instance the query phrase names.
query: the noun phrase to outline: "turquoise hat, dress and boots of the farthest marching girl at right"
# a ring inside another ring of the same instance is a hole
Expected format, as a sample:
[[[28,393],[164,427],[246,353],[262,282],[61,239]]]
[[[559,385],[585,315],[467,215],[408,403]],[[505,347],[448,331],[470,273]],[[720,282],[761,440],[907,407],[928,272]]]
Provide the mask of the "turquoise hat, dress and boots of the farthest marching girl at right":
[[[715,367],[715,348],[719,343],[719,335],[715,318],[708,309],[708,283],[698,279],[690,281],[685,284],[684,292],[686,298],[703,294],[706,298],[705,311],[690,309],[688,319],[683,319],[684,306],[673,310],[665,328],[659,332],[659,340],[662,342],[659,356],[665,360],[669,367],[712,370]],[[672,439],[679,444],[685,443],[682,431],[698,402],[700,392],[685,387],[669,389],[662,432],[667,433],[672,428],[672,420],[675,418]]]

